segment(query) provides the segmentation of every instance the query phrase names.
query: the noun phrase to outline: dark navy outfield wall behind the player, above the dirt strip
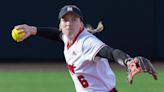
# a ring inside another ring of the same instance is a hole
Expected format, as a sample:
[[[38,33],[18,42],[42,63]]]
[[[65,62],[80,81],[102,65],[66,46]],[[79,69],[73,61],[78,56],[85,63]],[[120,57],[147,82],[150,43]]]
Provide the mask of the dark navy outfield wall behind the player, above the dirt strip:
[[[58,27],[60,8],[72,2],[79,5],[87,23],[96,27],[98,21],[103,21],[104,32],[96,35],[109,46],[120,48],[132,56],[164,59],[162,0],[1,1],[0,59],[62,59],[62,44],[39,37],[15,43],[11,30],[22,23]]]

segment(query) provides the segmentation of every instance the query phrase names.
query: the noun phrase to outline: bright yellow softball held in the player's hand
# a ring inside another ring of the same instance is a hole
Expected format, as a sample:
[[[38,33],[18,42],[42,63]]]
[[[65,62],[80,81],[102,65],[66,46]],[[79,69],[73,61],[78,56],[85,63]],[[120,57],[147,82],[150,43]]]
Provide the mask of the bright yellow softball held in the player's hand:
[[[16,29],[16,28],[14,28],[14,29],[12,30],[11,35],[12,35],[12,38],[13,38],[16,42],[22,41],[22,40],[23,40],[23,37],[26,35],[25,32],[19,33],[20,31],[22,31],[22,29]]]

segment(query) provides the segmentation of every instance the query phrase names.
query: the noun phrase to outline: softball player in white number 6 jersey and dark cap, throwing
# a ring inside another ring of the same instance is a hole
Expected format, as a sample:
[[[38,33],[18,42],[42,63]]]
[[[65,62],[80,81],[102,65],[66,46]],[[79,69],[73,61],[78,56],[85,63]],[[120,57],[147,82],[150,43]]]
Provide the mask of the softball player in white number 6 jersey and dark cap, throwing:
[[[128,69],[128,80],[139,72],[148,72],[157,79],[156,70],[144,57],[131,58],[119,49],[113,49],[92,35],[84,27],[84,18],[75,5],[64,6],[59,13],[59,30],[28,25],[18,25],[27,34],[64,42],[67,68],[77,92],[117,92],[116,78],[109,60],[114,60]],[[24,40],[23,39],[23,40]]]

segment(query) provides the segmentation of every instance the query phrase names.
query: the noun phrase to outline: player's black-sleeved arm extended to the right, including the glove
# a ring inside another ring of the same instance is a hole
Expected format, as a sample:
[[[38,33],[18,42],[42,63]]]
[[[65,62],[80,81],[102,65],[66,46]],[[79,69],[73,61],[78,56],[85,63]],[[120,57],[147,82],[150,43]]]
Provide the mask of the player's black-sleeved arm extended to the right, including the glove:
[[[127,53],[119,49],[113,49],[109,46],[103,47],[97,54],[98,56],[108,58],[118,62],[127,68],[128,81],[132,84],[133,78],[137,73],[147,72],[157,80],[157,72],[150,60],[142,56],[131,58]]]

